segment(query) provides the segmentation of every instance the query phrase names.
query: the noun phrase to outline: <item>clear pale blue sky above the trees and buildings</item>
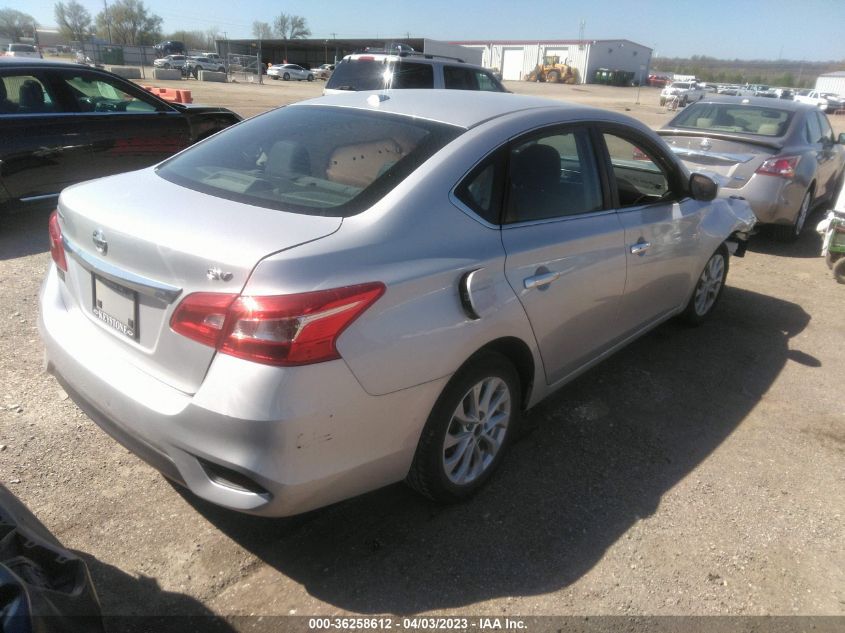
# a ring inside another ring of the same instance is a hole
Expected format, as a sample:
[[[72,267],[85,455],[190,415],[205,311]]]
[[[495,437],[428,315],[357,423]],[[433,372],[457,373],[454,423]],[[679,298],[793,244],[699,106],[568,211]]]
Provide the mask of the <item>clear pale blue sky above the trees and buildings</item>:
[[[93,15],[103,0],[79,0]],[[216,27],[252,35],[253,20],[280,12],[304,16],[313,37],[412,37],[442,40],[629,39],[659,56],[722,59],[845,60],[845,0],[145,0],[165,33]],[[53,0],[0,0],[54,24]],[[845,64],[845,61],[843,61]]]

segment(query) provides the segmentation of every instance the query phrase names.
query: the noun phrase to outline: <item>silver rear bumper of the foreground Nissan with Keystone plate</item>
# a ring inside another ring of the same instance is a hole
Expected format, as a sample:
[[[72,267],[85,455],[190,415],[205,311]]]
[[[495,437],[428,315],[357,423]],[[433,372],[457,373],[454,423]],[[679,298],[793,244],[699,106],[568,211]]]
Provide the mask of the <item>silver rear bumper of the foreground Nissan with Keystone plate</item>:
[[[298,514],[402,480],[446,379],[371,396],[342,360],[277,368],[218,355],[185,394],[98,354],[55,266],[41,290],[48,371],[129,450],[227,508]]]

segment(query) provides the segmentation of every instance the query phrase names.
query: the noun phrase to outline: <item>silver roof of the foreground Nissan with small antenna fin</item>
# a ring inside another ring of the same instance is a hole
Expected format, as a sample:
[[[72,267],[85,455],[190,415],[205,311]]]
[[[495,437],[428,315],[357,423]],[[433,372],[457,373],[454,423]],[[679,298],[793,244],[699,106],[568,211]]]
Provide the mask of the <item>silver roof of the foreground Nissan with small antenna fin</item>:
[[[557,108],[567,116],[563,120],[594,118],[615,120],[640,127],[634,119],[600,108],[541,97],[505,92],[476,90],[401,89],[372,90],[332,94],[286,107],[339,106],[360,110],[378,110],[392,114],[439,121],[465,129],[514,112]]]

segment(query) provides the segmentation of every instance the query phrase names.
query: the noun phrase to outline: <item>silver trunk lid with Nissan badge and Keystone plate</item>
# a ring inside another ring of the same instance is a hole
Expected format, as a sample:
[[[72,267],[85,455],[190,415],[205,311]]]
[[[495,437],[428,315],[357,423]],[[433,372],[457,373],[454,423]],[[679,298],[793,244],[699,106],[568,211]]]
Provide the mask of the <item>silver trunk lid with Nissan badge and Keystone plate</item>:
[[[66,303],[90,319],[86,334],[186,393],[215,352],[170,329],[179,302],[194,292],[237,294],[261,259],[342,222],[199,193],[154,169],[68,188],[59,214]]]

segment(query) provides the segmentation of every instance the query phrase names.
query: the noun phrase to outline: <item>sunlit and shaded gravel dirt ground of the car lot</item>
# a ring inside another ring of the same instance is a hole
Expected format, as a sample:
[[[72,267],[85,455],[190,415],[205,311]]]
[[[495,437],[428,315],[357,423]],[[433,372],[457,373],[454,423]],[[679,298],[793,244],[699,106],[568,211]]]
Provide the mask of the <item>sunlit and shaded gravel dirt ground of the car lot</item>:
[[[322,84],[190,87],[252,116]],[[510,87],[670,116],[653,89]],[[845,615],[845,286],[812,230],[755,239],[712,321],[532,411],[470,502],[396,485],[282,520],[169,485],[42,372],[46,235],[0,219],[0,481],[85,554],[106,614]]]

